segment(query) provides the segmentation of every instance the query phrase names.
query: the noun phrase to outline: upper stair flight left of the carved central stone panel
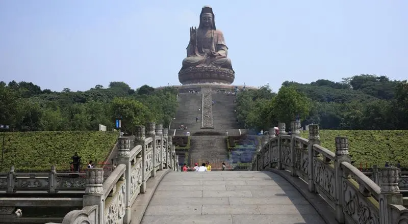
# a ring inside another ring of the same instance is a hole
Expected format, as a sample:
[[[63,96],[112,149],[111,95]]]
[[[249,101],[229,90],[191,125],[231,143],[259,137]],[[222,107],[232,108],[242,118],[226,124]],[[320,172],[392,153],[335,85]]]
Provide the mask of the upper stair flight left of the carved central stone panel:
[[[198,93],[180,93],[179,94],[179,109],[176,112],[175,120],[171,124],[172,131],[169,133],[172,135],[174,129],[176,129],[176,135],[183,135],[189,131],[193,133],[201,128],[201,122],[195,122],[195,118],[198,117],[201,120],[201,102],[202,94]],[[180,125],[187,127],[187,131],[179,130]]]

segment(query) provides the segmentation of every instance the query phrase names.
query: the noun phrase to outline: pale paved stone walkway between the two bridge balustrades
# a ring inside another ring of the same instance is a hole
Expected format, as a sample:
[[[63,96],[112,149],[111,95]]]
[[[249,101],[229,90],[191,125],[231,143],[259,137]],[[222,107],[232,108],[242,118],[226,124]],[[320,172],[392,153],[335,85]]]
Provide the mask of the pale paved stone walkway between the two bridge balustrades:
[[[159,184],[147,223],[325,223],[285,179],[270,172],[172,172]]]

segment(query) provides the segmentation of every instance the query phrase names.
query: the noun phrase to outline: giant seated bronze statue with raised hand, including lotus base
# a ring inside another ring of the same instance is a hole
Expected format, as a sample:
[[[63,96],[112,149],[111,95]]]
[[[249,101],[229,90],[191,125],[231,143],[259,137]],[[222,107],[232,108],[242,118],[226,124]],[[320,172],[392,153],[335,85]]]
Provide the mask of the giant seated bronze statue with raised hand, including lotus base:
[[[180,82],[231,84],[235,72],[227,54],[224,35],[215,27],[213,9],[209,6],[202,7],[198,29],[190,28],[187,58],[183,60],[183,67],[179,72]]]

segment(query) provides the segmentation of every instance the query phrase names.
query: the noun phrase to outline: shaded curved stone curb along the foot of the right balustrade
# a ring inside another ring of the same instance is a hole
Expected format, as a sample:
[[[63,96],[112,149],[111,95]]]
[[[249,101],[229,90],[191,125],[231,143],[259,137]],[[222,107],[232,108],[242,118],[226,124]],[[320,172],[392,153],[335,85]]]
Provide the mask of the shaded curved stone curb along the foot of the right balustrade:
[[[283,171],[283,170],[276,170],[276,169],[266,169],[266,171],[270,171],[275,173],[285,180],[287,180],[290,184],[292,184],[302,195],[303,197],[316,209],[319,215],[323,218],[323,220],[328,224],[339,224],[336,220],[336,214],[334,209],[332,209],[327,202],[321,198],[318,194],[312,193],[309,191],[308,184],[299,179],[298,177],[292,177],[290,172]]]

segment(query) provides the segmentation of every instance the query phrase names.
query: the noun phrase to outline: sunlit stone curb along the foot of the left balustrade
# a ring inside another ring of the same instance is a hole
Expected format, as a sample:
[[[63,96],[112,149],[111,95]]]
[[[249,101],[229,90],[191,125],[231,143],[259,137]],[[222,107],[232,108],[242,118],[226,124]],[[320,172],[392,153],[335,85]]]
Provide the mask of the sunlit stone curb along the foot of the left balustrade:
[[[150,200],[156,192],[156,188],[159,186],[162,179],[170,172],[172,172],[172,170],[170,169],[156,171],[156,177],[149,178],[147,180],[146,192],[139,194],[135,202],[131,206],[131,224],[140,224],[143,219],[144,213],[149,206]]]

